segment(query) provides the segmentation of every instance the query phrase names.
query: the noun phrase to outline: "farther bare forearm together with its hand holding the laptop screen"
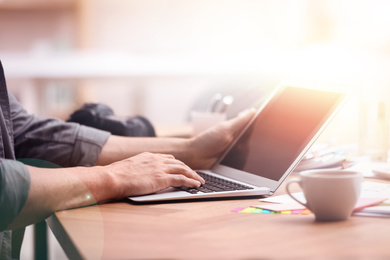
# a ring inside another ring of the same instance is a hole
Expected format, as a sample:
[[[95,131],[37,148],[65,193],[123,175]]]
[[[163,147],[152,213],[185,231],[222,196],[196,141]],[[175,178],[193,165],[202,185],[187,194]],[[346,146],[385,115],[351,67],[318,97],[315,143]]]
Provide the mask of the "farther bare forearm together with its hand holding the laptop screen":
[[[218,124],[193,138],[156,138],[110,136],[98,157],[98,165],[107,165],[151,152],[171,154],[192,169],[211,167],[242,128],[253,117],[249,110],[232,120]]]

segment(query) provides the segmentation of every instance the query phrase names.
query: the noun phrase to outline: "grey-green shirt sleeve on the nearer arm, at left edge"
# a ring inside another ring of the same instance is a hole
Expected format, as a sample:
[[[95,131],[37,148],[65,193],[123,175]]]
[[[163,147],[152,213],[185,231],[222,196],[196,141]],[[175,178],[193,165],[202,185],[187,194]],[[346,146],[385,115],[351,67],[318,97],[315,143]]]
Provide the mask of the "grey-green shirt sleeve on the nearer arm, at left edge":
[[[0,231],[7,228],[26,204],[30,173],[18,161],[0,160]]]

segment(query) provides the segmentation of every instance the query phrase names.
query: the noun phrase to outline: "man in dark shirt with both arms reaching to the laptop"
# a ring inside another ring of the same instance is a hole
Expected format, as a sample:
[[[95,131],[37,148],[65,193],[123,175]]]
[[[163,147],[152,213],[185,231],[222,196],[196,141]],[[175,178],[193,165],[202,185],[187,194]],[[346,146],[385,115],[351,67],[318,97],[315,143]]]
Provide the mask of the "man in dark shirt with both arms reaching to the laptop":
[[[28,114],[0,63],[0,259],[19,258],[24,227],[55,211],[170,186],[198,187],[253,111],[189,138],[136,138]],[[49,161],[37,168],[17,159]]]

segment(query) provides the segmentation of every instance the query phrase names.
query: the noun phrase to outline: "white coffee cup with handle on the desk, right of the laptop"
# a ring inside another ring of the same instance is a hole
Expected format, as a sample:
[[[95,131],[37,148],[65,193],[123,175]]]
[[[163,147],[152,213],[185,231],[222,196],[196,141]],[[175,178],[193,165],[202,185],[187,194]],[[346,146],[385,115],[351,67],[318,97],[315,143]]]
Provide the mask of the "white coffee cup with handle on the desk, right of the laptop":
[[[291,179],[287,193],[311,210],[318,221],[347,220],[360,196],[362,174],[347,170],[308,170],[300,178]],[[290,186],[298,183],[306,203],[299,201],[290,192]]]

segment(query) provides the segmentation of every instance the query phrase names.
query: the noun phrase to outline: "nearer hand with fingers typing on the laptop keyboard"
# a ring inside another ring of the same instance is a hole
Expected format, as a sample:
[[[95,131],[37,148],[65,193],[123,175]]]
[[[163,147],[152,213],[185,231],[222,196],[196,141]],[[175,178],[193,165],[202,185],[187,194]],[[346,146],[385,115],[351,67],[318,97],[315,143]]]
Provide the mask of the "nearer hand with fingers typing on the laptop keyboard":
[[[119,189],[114,199],[154,193],[168,187],[199,187],[204,180],[172,155],[141,153],[106,167]]]

